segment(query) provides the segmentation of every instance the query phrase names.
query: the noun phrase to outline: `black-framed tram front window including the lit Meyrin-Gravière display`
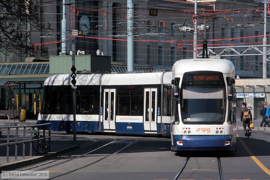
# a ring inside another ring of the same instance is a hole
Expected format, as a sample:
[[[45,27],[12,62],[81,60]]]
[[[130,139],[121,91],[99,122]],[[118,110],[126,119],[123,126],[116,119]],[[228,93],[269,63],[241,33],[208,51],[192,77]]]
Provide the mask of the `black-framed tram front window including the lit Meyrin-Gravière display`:
[[[184,124],[223,124],[226,88],[222,73],[184,74],[180,110]]]

